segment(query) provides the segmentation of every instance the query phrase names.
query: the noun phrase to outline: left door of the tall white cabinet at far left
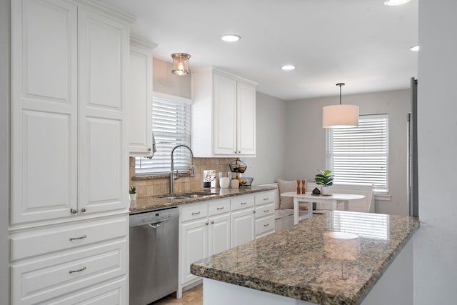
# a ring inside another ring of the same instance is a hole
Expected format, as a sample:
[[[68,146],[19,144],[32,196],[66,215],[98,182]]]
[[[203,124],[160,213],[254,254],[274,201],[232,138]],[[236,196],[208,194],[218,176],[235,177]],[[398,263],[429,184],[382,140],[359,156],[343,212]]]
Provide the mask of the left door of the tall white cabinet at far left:
[[[76,6],[11,1],[11,224],[76,208],[77,60]]]

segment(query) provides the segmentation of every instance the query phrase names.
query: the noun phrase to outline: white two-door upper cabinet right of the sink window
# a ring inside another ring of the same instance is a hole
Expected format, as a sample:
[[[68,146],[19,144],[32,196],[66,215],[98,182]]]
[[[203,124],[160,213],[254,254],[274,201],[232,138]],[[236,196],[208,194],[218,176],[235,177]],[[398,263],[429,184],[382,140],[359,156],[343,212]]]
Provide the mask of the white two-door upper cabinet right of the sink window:
[[[194,156],[256,156],[256,83],[214,67],[192,70]]]

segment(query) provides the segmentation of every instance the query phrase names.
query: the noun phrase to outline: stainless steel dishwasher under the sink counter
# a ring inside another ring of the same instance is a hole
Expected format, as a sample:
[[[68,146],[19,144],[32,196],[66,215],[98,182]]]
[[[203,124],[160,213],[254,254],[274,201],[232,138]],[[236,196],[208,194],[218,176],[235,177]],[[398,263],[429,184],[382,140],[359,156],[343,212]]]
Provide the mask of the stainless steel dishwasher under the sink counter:
[[[146,305],[178,290],[179,210],[130,215],[130,305]]]

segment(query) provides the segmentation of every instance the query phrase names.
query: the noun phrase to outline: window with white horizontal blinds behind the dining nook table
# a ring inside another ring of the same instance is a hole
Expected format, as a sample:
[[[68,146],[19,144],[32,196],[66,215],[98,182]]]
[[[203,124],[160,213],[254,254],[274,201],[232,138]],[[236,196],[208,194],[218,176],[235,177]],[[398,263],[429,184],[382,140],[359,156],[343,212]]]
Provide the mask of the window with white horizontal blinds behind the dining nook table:
[[[373,184],[388,194],[388,116],[360,116],[357,128],[327,129],[327,167],[336,184]]]

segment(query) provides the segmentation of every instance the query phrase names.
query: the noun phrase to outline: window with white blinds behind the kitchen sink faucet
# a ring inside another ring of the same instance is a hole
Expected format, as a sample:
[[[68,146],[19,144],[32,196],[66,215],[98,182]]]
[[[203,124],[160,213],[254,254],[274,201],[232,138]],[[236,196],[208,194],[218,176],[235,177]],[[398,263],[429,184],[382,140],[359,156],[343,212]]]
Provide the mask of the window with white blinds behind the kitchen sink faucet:
[[[136,157],[137,175],[164,174],[171,169],[171,150],[184,144],[191,146],[191,100],[179,96],[154,94],[152,99],[152,132],[156,152],[152,159]],[[188,171],[191,166],[189,149],[174,151],[174,169]]]

